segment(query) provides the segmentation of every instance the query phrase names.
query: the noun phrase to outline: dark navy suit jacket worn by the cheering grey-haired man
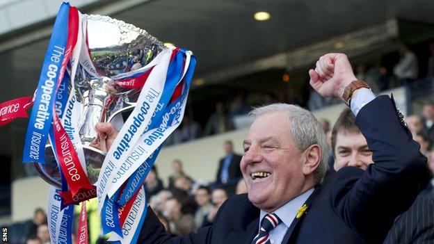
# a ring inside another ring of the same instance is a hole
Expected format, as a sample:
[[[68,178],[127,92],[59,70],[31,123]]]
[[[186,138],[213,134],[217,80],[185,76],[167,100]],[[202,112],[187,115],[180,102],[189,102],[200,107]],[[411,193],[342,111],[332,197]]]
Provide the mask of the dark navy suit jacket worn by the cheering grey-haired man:
[[[292,222],[282,243],[381,243],[428,183],[426,157],[393,99],[377,97],[356,123],[375,163],[366,171],[342,168],[323,188],[316,186],[307,212]],[[138,243],[250,243],[258,227],[259,209],[246,194],[236,195],[220,207],[214,225],[182,237],[168,234],[148,209]]]

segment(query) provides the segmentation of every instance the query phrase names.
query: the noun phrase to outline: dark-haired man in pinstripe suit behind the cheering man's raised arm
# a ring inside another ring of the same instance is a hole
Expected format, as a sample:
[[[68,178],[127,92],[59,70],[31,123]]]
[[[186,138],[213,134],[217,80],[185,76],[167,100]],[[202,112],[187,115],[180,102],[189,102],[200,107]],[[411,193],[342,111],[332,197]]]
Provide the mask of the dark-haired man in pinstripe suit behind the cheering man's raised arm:
[[[417,141],[416,138],[415,140]],[[355,116],[348,108],[342,111],[333,127],[332,149],[336,171],[346,166],[367,170],[373,163],[367,140],[355,124]],[[410,209],[396,218],[385,243],[431,242],[434,242],[434,195],[423,191]]]

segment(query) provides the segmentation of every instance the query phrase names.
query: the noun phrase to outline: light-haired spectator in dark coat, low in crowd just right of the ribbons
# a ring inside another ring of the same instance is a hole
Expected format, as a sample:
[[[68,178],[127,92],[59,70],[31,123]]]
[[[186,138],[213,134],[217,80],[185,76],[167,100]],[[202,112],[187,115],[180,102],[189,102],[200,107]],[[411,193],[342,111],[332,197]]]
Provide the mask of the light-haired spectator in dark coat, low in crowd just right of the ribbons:
[[[166,218],[172,234],[186,235],[195,229],[194,218],[191,214],[183,214],[182,205],[176,198],[170,198],[165,204]]]

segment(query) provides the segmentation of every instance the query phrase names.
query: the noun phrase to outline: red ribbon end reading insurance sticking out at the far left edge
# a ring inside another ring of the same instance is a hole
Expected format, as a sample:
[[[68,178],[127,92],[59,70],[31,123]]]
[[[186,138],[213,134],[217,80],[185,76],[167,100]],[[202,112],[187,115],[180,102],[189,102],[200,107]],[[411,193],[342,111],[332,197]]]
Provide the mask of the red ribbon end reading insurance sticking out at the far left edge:
[[[18,117],[29,117],[26,110],[33,104],[32,97],[20,97],[0,104],[0,127],[9,124]]]

